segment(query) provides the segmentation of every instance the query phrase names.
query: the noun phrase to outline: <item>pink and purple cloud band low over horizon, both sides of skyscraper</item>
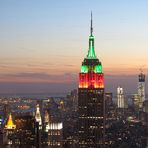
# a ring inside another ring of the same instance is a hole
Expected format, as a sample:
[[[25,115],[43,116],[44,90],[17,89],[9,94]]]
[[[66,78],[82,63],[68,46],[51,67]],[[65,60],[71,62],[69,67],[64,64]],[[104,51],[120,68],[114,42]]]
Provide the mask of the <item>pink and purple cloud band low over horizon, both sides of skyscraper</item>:
[[[0,74],[0,92],[67,92],[78,87],[78,79],[78,74],[71,72],[63,74]],[[116,89],[120,85],[123,87],[125,94],[137,93],[138,75],[108,74],[104,76],[104,80],[106,92],[116,94]],[[147,78],[145,85],[146,92],[148,92]]]

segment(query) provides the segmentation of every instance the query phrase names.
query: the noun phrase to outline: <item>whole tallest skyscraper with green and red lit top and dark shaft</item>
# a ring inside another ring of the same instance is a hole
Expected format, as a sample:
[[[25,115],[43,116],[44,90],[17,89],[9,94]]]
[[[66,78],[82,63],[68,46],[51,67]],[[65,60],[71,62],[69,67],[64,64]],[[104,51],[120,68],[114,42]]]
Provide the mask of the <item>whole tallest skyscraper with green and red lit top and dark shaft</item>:
[[[102,64],[94,50],[94,36],[91,27],[89,49],[79,73],[78,112],[79,147],[98,148],[103,144],[104,131],[104,74]]]

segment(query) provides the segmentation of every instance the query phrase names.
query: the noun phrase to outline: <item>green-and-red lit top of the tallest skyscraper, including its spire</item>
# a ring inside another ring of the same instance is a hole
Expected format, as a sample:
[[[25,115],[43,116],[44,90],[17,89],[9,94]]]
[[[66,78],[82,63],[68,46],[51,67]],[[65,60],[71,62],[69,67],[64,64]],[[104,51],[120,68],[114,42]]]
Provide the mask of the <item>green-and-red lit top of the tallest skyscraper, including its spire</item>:
[[[104,76],[102,73],[102,64],[95,54],[94,36],[92,27],[92,13],[91,13],[91,27],[89,36],[89,49],[87,57],[84,58],[79,75],[79,88],[104,88]]]

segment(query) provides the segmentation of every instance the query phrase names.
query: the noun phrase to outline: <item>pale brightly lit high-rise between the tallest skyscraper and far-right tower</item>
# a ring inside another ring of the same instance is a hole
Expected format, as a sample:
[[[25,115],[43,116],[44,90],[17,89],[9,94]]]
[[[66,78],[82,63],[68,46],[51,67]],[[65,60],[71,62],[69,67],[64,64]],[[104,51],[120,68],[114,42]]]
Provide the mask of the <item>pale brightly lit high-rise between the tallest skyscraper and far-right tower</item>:
[[[117,106],[118,108],[125,108],[125,100],[124,100],[123,88],[117,88]]]

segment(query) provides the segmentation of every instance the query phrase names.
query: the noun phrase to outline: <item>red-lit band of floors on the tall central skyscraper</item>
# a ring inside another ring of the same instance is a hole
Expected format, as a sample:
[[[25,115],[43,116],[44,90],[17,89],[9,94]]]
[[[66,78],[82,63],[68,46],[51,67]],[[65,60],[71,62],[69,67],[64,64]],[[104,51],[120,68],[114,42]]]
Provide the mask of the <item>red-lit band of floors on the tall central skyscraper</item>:
[[[79,88],[104,88],[104,75],[102,73],[80,73]]]

